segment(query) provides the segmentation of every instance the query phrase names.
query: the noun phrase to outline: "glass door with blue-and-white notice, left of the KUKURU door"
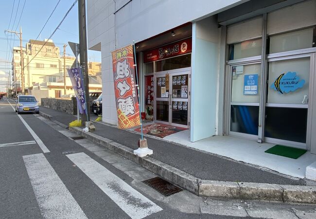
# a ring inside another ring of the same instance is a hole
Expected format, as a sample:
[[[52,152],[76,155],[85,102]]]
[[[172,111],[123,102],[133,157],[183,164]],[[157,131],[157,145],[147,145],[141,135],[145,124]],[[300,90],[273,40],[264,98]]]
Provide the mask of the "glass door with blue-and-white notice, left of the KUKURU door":
[[[229,134],[258,138],[261,63],[232,64],[229,72]]]

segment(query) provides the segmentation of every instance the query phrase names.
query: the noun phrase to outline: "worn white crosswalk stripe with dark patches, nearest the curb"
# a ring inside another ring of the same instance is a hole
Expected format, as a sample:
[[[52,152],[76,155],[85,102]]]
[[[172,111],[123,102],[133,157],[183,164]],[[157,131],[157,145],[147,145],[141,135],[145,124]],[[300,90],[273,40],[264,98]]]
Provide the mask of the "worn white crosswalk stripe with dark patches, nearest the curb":
[[[132,219],[141,219],[162,210],[87,154],[66,156]]]

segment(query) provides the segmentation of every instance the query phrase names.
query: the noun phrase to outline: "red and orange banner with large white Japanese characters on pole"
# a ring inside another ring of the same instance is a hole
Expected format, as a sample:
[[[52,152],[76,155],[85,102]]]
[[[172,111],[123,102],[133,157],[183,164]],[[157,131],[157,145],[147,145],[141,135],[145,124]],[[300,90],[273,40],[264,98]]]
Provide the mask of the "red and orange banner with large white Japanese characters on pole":
[[[114,91],[119,128],[140,125],[133,46],[112,52]]]

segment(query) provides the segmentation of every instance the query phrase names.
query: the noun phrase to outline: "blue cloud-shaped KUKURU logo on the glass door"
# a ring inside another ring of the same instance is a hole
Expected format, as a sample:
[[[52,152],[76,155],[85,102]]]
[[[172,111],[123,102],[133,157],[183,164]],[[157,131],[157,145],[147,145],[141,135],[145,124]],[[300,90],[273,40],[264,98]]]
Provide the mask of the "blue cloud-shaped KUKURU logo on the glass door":
[[[302,88],[305,80],[299,80],[296,72],[282,73],[273,84],[271,88],[275,91],[279,91],[281,94],[288,93],[290,91],[296,91],[298,88]]]

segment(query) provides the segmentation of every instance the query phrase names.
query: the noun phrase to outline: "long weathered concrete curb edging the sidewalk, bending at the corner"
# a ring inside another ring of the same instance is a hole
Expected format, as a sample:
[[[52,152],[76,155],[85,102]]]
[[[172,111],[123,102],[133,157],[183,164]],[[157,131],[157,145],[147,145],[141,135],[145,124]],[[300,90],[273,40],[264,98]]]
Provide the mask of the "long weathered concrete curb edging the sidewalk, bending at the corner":
[[[154,158],[138,157],[134,155],[133,149],[91,132],[84,132],[82,128],[69,129],[198,196],[316,204],[316,186],[201,180]]]

